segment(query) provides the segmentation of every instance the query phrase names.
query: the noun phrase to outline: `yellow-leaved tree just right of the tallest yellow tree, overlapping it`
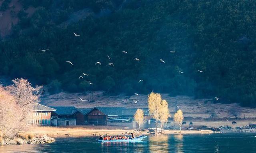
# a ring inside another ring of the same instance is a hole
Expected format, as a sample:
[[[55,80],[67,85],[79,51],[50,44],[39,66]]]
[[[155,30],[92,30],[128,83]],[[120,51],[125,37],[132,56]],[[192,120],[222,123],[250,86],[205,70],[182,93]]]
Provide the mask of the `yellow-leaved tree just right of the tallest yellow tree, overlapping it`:
[[[160,123],[161,123],[160,127],[161,127],[161,133],[162,133],[164,129],[164,123],[166,123],[168,121],[168,117],[170,117],[168,103],[165,99],[161,101],[159,116],[160,116]]]

